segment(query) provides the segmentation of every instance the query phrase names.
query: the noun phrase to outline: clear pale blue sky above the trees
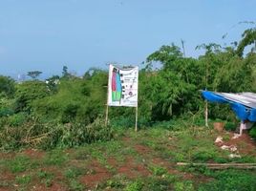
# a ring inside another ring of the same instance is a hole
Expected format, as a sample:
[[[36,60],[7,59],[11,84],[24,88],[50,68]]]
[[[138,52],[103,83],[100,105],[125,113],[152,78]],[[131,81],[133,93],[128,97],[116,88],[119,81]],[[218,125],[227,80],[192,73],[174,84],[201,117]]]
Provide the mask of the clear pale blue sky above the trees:
[[[0,0],[0,74],[139,64],[161,45],[239,40],[256,0]],[[228,35],[225,39],[222,36]]]

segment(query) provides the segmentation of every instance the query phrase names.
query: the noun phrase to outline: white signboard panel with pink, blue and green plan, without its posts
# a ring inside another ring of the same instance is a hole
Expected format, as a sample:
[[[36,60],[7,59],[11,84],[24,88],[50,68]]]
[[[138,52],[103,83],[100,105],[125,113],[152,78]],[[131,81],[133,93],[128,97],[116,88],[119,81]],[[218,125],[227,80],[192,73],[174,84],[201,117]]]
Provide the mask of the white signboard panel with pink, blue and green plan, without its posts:
[[[108,105],[138,107],[139,67],[109,66]]]

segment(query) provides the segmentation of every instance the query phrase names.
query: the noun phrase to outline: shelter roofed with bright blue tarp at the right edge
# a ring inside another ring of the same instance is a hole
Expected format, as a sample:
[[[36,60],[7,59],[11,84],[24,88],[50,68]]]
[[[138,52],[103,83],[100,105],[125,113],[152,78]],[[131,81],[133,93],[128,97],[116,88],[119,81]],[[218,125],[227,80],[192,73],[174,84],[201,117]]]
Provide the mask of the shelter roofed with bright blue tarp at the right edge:
[[[236,116],[241,119],[240,134],[256,122],[256,94],[253,93],[217,93],[202,91],[203,97],[210,102],[227,103]]]

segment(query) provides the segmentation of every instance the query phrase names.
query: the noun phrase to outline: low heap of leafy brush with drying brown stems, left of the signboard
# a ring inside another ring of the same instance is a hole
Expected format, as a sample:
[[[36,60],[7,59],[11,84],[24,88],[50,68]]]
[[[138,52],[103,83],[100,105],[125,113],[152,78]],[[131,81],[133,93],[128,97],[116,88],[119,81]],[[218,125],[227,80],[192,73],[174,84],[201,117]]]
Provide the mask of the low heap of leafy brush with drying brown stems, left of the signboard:
[[[73,147],[95,141],[106,141],[113,137],[110,126],[104,120],[96,118],[93,123],[45,123],[39,119],[23,121],[22,117],[13,117],[13,126],[5,126],[0,133],[0,148],[14,150],[22,146],[41,149],[54,147]],[[20,125],[17,125],[19,124]]]

